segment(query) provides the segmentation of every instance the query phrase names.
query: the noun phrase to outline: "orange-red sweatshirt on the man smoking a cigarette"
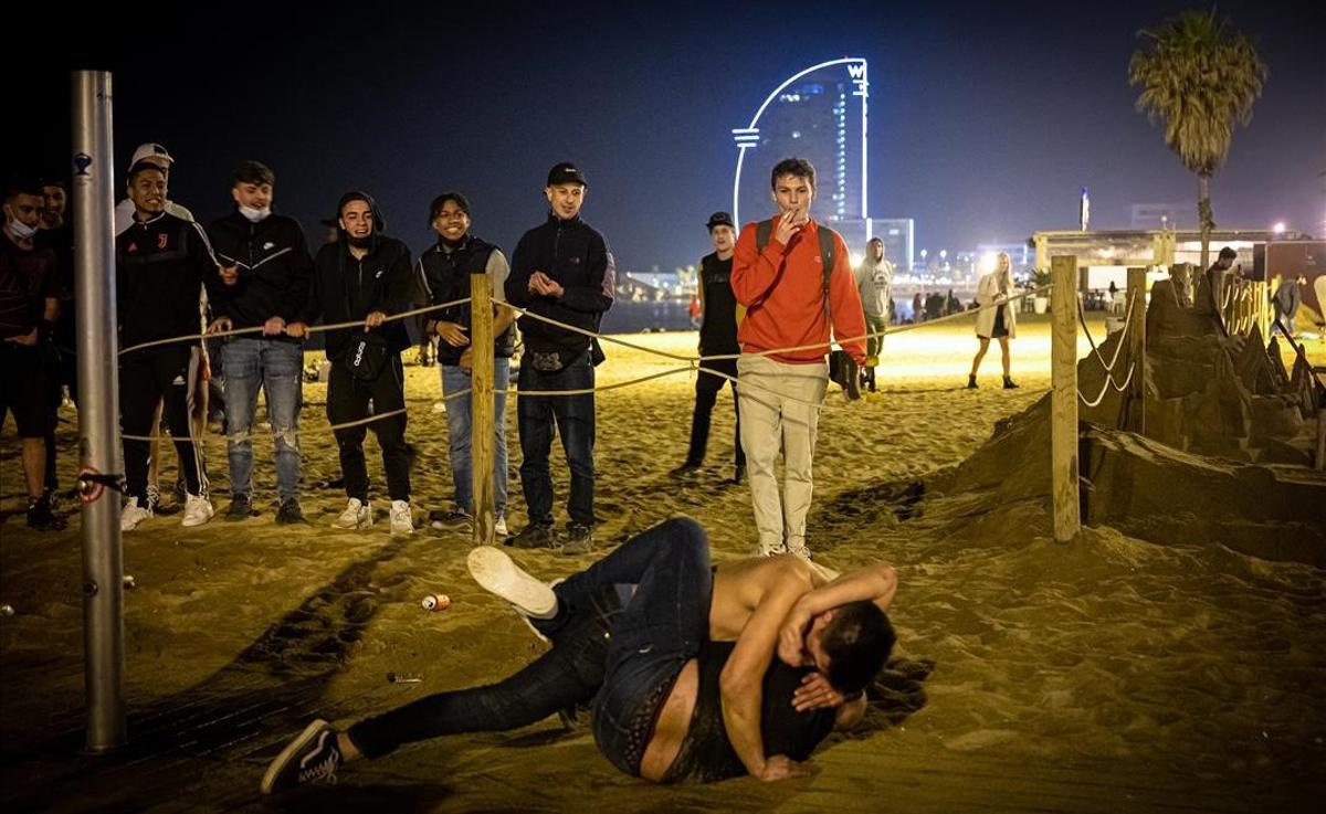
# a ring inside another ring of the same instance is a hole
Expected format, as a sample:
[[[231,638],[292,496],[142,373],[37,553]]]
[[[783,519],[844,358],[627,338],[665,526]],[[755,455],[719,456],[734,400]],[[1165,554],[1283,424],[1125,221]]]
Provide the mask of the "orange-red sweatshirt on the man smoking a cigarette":
[[[770,354],[789,365],[823,362],[829,353],[829,313],[823,297],[823,260],[819,255],[819,225],[810,220],[792,236],[788,245],[773,235],[762,252],[756,251],[756,224],[741,228],[732,257],[732,292],[747,306],[737,327],[741,353],[776,347],[822,343],[823,347]],[[863,337],[866,316],[851,274],[847,247],[837,237],[834,268],[829,274],[829,308],[835,337]],[[866,341],[841,342],[858,365],[866,362]]]

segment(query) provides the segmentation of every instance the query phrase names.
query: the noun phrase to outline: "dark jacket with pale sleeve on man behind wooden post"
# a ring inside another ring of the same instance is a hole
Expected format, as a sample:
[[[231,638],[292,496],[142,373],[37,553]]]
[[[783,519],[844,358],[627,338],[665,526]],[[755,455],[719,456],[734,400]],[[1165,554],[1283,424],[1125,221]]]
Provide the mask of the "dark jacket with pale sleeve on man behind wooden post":
[[[500,280],[508,276],[507,257],[501,249],[485,243],[473,235],[465,235],[461,244],[450,252],[440,243],[419,256],[415,266],[415,285],[418,286],[418,300],[420,305],[442,305],[455,300],[469,298],[469,276],[484,273],[489,280]],[[496,300],[505,298],[503,294]],[[424,321],[427,326],[436,322],[455,322],[465,327],[469,334],[469,304],[452,305],[439,312],[430,312]],[[500,335],[493,337],[493,354],[497,358],[511,358],[514,350],[516,331],[507,326]],[[438,362],[447,366],[460,365],[460,355],[465,347],[453,347],[447,342],[438,343]]]

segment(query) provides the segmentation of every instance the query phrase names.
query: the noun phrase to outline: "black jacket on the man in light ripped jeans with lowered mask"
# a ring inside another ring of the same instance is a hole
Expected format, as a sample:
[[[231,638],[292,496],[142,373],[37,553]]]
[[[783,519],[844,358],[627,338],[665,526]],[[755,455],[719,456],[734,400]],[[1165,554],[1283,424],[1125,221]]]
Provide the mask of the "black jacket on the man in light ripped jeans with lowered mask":
[[[313,259],[300,221],[268,215],[251,223],[232,212],[207,229],[223,266],[239,266],[235,285],[213,286],[213,317],[229,317],[235,327],[263,325],[272,317],[293,322],[309,298]],[[285,334],[277,339],[297,341]]]

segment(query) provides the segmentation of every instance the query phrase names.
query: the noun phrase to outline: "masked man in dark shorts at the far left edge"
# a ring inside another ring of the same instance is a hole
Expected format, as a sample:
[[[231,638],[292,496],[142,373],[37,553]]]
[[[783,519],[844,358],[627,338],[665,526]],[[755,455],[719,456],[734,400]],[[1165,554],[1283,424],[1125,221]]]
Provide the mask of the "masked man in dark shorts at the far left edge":
[[[48,377],[53,374],[48,354],[52,325],[60,312],[60,278],[54,252],[34,241],[41,207],[40,186],[20,183],[5,188],[0,239],[0,377],[4,377],[0,424],[7,414],[13,414],[23,447],[28,525],[38,532],[58,532],[65,521],[50,510],[44,487],[52,395]]]

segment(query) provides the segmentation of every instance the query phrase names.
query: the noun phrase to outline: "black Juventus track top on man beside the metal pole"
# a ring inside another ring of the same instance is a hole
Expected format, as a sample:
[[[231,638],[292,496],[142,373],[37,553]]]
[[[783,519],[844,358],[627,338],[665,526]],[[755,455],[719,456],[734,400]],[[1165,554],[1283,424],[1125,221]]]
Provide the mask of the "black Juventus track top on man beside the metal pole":
[[[203,227],[167,212],[135,220],[115,237],[119,346],[199,334],[204,285],[215,296],[220,269]]]

